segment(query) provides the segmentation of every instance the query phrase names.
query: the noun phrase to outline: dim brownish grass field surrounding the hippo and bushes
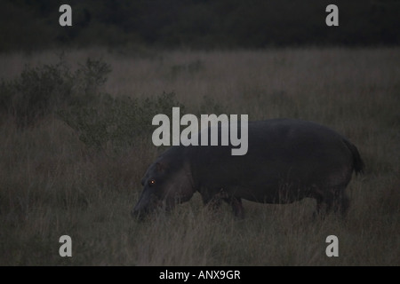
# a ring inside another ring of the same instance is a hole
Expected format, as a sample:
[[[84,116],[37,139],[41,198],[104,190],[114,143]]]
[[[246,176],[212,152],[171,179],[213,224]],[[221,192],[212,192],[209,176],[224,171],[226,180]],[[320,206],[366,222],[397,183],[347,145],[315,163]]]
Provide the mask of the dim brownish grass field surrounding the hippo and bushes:
[[[52,63],[60,51],[0,54],[0,77]],[[359,149],[364,176],[348,185],[346,219],[313,220],[315,201],[244,201],[246,217],[204,209],[198,193],[171,215],[130,216],[140,178],[158,151],[149,137],[119,155],[93,153],[57,115],[0,125],[1,265],[400,265],[400,49],[69,51],[112,67],[103,91],[147,98],[174,91],[188,112],[207,102],[250,120],[320,122]],[[148,127],[152,127],[148,125]],[[151,136],[150,136],[151,137]],[[72,238],[60,257],[59,238]],[[339,239],[328,257],[325,239]]]

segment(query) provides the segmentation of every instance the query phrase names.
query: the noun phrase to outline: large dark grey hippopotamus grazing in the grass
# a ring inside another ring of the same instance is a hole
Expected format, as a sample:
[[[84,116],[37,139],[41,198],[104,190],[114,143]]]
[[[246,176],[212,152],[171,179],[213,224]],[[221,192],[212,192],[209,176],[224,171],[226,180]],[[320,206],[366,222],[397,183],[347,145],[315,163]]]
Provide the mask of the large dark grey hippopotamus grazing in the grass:
[[[313,198],[314,214],[346,215],[345,189],[353,171],[363,169],[356,146],[316,122],[248,122],[244,155],[231,155],[228,146],[182,145],[160,154],[141,179],[143,191],[132,216],[143,217],[159,207],[171,210],[196,192],[204,204],[227,201],[238,217],[244,217],[242,199],[284,204]]]

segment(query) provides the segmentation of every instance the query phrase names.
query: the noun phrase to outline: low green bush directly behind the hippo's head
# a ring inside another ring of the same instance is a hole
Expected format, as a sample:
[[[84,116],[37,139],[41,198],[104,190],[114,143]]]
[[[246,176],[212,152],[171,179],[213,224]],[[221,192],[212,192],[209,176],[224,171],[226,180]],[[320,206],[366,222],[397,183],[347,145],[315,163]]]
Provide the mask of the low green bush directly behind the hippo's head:
[[[172,106],[180,106],[180,113],[184,113],[174,92],[146,99],[112,98],[107,94],[98,106],[76,106],[59,114],[89,149],[116,154],[151,132],[154,115],[171,114]]]

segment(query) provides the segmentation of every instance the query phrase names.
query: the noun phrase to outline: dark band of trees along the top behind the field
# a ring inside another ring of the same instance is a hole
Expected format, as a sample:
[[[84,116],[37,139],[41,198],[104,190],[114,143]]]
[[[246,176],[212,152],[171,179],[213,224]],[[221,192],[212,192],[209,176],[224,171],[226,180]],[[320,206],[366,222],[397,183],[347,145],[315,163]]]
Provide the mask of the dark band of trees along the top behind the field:
[[[61,4],[72,7],[72,27],[60,27]],[[328,4],[339,7],[339,27],[325,24]],[[93,45],[235,49],[400,43],[398,1],[6,0],[0,13],[0,51]]]

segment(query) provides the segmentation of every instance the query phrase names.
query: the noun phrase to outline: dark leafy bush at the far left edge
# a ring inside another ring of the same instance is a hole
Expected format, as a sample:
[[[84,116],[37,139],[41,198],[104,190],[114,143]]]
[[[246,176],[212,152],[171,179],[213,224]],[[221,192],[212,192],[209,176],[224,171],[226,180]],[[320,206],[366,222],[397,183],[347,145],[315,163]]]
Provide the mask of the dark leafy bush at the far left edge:
[[[72,72],[63,57],[53,65],[25,66],[20,76],[0,83],[0,111],[11,115],[20,127],[68,106],[87,106],[111,71],[100,59],[87,59]]]

